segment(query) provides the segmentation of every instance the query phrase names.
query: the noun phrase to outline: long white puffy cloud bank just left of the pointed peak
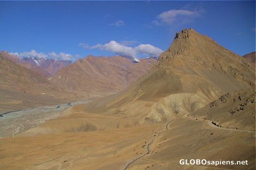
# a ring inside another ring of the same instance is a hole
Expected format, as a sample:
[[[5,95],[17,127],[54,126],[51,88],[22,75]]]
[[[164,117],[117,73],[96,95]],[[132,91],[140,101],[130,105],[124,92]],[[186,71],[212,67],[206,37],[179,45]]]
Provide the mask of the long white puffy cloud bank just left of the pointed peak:
[[[149,54],[150,56],[158,57],[162,52],[164,52],[160,48],[150,44],[139,44],[136,47],[131,47],[131,46],[124,45],[122,43],[118,43],[117,41],[114,41],[114,40],[109,41],[109,43],[107,44],[96,44],[93,46],[80,43],[79,46],[85,49],[99,49],[99,50],[110,51],[118,55],[128,56],[135,59],[138,57],[138,54]]]

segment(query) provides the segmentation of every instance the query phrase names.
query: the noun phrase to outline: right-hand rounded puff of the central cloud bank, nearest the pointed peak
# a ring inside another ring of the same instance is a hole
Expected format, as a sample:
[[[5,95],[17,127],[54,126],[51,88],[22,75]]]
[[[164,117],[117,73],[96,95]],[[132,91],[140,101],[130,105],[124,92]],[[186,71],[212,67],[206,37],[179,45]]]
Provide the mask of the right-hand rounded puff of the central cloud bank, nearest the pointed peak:
[[[150,44],[140,44],[137,47],[135,47],[135,50],[138,53],[150,54],[156,57],[158,57],[162,52],[164,52],[160,48]]]

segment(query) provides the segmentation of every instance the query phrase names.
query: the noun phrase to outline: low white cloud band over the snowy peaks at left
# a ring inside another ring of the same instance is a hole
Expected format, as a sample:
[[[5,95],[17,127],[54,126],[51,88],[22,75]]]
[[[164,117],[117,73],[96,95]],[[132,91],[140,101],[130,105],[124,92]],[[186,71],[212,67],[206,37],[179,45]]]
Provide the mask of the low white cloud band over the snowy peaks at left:
[[[62,60],[72,60],[73,56],[68,53],[60,52],[59,54],[55,52],[50,52],[48,54],[45,54],[43,52],[36,52],[36,50],[31,50],[30,52],[10,52],[12,55],[16,55],[19,57],[32,57],[32,58],[55,58],[55,59],[62,59]]]

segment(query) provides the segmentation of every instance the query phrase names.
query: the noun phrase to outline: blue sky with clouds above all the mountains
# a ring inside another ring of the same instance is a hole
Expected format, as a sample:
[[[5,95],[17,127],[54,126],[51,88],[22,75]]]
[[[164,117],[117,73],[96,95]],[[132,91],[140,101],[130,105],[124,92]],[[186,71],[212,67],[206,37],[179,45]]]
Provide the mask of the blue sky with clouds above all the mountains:
[[[255,51],[255,1],[0,1],[0,23],[0,50],[20,56],[156,56],[190,27]]]

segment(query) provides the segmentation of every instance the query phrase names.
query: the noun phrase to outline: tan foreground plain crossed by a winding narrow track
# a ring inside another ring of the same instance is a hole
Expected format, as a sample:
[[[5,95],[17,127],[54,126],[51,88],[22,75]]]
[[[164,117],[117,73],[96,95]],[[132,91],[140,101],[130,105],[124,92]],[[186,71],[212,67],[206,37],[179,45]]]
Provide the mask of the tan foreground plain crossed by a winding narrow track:
[[[254,131],[185,116],[165,124],[7,137],[0,149],[0,169],[255,169]],[[180,159],[249,165],[188,166]]]

